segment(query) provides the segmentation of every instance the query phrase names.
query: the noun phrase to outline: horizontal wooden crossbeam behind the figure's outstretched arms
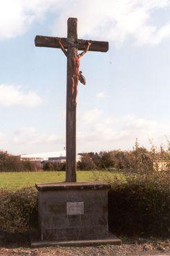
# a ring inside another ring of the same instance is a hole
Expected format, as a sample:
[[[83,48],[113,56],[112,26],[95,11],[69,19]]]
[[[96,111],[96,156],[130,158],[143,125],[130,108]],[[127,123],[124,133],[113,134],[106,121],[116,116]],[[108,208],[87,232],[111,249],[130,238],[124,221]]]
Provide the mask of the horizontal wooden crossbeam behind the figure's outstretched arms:
[[[82,39],[73,39],[73,38],[65,38],[65,37],[46,37],[42,35],[37,35],[35,37],[35,46],[39,47],[52,47],[52,48],[60,48],[59,39],[62,40],[62,44],[65,49],[68,49],[70,44],[74,44],[78,50],[84,51],[90,40],[82,40]],[[108,42],[102,41],[91,41],[91,46],[88,51],[108,51]]]

